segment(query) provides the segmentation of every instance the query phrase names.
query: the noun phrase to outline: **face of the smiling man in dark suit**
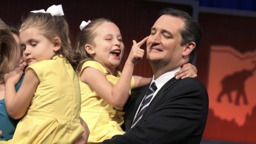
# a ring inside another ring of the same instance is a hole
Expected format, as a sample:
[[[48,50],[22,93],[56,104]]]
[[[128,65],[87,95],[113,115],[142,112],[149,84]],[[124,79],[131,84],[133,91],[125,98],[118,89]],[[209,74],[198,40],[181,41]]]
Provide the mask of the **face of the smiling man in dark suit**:
[[[181,63],[185,46],[180,46],[180,29],[184,25],[183,19],[168,15],[162,15],[156,20],[147,40],[147,59],[151,63],[157,62],[173,67]]]

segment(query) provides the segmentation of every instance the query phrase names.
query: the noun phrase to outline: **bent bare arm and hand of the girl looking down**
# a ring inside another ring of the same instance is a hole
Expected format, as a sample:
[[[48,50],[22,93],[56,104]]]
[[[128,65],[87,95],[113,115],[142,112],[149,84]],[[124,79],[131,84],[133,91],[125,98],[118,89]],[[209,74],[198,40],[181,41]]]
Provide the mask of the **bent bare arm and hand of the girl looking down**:
[[[5,76],[5,107],[9,116],[14,119],[24,116],[40,82],[36,72],[30,69],[26,72],[21,87],[16,93],[15,85],[23,73],[23,71],[18,73],[12,71]]]

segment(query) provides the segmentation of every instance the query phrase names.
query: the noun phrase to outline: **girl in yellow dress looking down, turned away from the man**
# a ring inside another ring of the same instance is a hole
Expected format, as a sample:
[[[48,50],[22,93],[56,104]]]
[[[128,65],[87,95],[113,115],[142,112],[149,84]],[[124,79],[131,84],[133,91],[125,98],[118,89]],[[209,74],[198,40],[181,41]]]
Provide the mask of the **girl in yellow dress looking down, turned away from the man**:
[[[19,37],[28,67],[17,93],[14,86],[23,71],[5,76],[5,106],[12,118],[25,116],[8,143],[71,144],[83,133],[74,71],[80,55],[70,46],[62,15],[63,11],[30,13],[21,24]]]

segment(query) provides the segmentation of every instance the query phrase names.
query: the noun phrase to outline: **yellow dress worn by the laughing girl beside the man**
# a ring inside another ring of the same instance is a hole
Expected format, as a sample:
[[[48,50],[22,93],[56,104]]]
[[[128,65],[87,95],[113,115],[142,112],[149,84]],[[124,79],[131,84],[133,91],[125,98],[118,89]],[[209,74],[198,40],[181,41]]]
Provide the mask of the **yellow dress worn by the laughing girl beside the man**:
[[[97,61],[85,61],[81,72],[86,67],[96,68],[104,73],[112,85],[116,85],[121,75],[120,71],[116,71],[116,76],[108,74],[107,70]],[[83,83],[80,79],[81,72],[78,75],[82,97],[80,116],[87,123],[90,130],[88,144],[100,143],[105,139],[111,139],[114,135],[123,135],[125,132],[121,129],[121,125],[123,124],[124,112],[115,109],[92,90],[89,85]],[[133,86],[134,78],[132,78],[130,89]]]

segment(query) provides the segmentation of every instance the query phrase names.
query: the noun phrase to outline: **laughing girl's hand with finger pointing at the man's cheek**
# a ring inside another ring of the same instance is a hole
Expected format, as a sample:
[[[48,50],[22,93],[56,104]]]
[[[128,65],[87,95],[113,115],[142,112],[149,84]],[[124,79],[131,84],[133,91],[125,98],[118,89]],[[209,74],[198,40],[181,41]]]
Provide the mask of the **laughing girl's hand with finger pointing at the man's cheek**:
[[[140,47],[147,41],[147,38],[144,38],[140,42],[136,42],[133,40],[133,47],[130,50],[130,54],[128,56],[128,60],[130,60],[133,64],[137,64],[138,60],[141,60],[144,56],[144,50],[140,49]]]

